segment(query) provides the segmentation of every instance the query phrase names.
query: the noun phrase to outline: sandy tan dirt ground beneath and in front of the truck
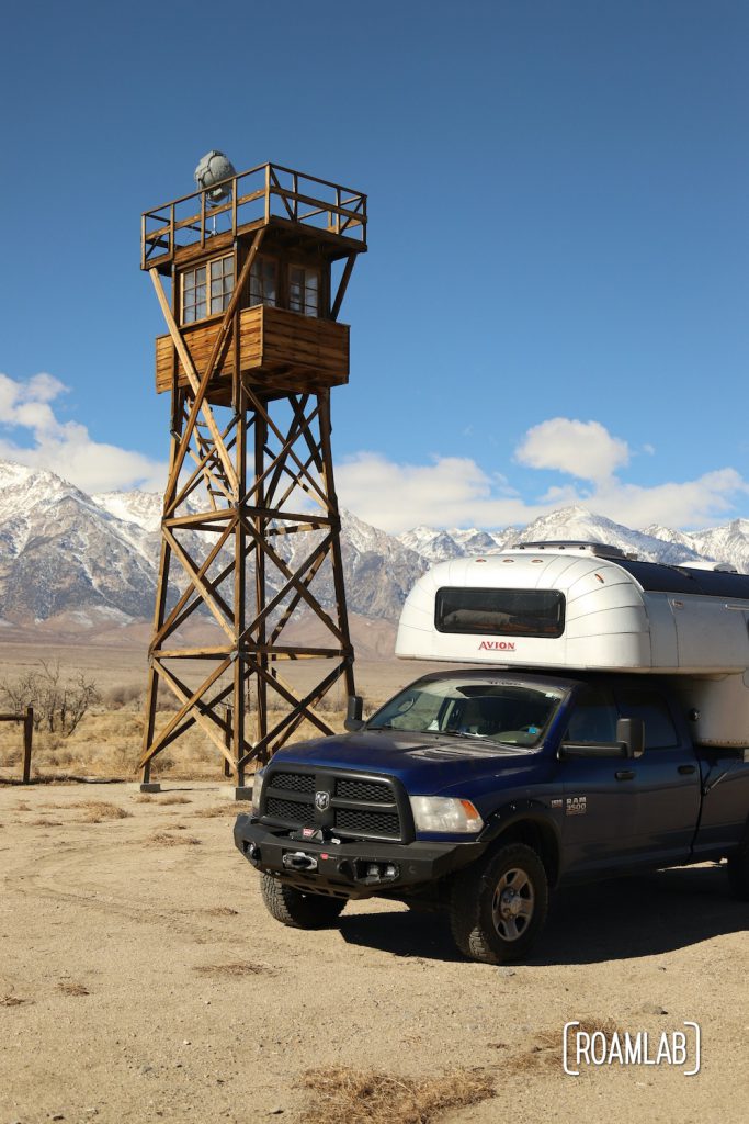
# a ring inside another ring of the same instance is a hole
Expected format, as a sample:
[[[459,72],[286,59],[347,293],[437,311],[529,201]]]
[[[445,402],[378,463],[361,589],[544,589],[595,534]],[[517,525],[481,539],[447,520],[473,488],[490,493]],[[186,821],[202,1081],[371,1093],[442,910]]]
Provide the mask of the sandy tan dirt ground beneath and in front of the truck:
[[[748,909],[722,871],[559,894],[532,959],[493,968],[400,905],[278,925],[232,845],[231,794],[0,787],[0,1124],[332,1120],[301,1087],[330,1066],[487,1079],[493,1097],[429,1117],[446,1124],[746,1120]],[[572,1019],[654,1040],[697,1021],[701,1072],[566,1076]]]

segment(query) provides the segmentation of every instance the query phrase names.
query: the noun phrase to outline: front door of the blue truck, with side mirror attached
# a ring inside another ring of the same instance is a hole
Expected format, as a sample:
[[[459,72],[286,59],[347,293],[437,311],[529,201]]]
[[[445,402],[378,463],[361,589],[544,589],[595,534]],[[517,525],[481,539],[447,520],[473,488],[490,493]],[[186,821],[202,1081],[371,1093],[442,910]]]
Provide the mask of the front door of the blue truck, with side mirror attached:
[[[565,873],[602,872],[621,867],[634,831],[630,762],[616,749],[616,709],[605,687],[576,691],[563,744],[611,746],[611,755],[567,758],[563,780]]]

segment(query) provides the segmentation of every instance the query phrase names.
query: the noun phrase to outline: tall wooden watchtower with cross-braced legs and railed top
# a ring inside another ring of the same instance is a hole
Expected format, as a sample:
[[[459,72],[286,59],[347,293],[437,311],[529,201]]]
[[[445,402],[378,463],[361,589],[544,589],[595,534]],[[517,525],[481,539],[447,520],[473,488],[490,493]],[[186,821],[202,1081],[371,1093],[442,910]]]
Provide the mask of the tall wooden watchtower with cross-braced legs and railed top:
[[[172,396],[144,783],[199,727],[241,787],[302,723],[332,733],[319,704],[341,677],[354,694],[330,389],[348,381],[338,314],[366,197],[226,163],[227,179],[143,216],[168,329],[156,390]],[[303,688],[284,674],[301,660]],[[176,709],[159,714],[162,690]]]

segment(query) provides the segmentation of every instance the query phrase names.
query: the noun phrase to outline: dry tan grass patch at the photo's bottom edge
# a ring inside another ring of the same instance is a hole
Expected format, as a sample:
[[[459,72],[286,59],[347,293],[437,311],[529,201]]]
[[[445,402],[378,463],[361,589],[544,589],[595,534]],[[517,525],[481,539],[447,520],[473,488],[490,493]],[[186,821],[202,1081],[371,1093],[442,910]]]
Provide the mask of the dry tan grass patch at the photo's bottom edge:
[[[308,1070],[302,1086],[311,1093],[303,1124],[430,1124],[494,1096],[492,1078],[467,1069],[417,1080],[332,1066]]]

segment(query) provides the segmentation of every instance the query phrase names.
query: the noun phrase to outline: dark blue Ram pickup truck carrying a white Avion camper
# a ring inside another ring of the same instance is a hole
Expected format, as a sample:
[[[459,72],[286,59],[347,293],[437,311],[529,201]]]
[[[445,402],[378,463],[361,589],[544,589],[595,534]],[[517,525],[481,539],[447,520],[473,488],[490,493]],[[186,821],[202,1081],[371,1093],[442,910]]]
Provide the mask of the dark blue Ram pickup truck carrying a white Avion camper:
[[[500,963],[576,879],[727,860],[749,899],[748,628],[749,577],[718,566],[593,543],[435,566],[396,654],[451,667],[256,779],[235,841],[268,909],[300,928],[349,898],[442,909]]]

